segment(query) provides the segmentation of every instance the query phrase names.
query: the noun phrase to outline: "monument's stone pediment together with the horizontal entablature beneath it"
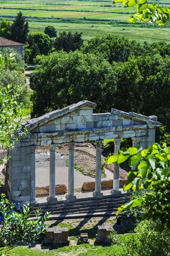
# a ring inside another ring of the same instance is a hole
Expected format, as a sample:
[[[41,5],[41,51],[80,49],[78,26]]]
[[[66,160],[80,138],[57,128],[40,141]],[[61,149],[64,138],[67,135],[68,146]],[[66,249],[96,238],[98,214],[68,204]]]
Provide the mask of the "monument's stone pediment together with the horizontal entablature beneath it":
[[[155,129],[161,124],[155,121],[153,116],[125,113],[116,109],[111,109],[111,113],[93,114],[95,107],[94,103],[80,101],[78,104],[27,121],[26,127],[31,132],[27,135],[27,141],[40,146],[148,135],[149,138],[143,138],[141,142],[155,141],[155,133],[150,129]],[[25,144],[25,139],[21,139],[21,145],[22,142]],[[147,148],[147,145],[144,145],[144,148]]]

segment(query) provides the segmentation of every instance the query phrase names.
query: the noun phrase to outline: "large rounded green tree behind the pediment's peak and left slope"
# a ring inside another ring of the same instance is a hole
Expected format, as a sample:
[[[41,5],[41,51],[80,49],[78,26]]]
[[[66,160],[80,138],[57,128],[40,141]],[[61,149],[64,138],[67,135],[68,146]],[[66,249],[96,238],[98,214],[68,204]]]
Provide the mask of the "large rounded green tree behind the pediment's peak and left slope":
[[[98,111],[108,111],[115,99],[115,71],[102,57],[61,51],[38,56],[35,63],[39,67],[30,80],[34,116],[82,100],[98,103]]]

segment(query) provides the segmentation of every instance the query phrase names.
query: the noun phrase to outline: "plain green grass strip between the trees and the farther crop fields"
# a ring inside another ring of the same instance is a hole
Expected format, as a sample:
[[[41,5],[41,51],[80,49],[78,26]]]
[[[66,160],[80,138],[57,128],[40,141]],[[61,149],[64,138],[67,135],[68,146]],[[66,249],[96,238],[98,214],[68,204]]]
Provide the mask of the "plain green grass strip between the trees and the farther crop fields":
[[[58,33],[62,31],[76,31],[82,32],[84,40],[90,39],[95,36],[104,36],[107,34],[119,34],[127,38],[139,41],[155,41],[163,40],[169,42],[170,29],[169,28],[141,28],[141,27],[114,27],[108,24],[74,24],[74,23],[50,23],[54,26]],[[30,22],[30,32],[44,32],[46,22]]]

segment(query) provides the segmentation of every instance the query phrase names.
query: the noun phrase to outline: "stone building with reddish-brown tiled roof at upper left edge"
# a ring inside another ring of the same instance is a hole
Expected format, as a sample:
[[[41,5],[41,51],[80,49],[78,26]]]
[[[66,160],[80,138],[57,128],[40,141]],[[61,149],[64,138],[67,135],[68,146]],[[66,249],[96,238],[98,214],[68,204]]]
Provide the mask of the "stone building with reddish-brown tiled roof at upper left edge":
[[[20,54],[21,58],[24,60],[25,49],[24,44],[15,42],[4,37],[0,37],[0,49],[3,48],[13,48],[17,53]]]

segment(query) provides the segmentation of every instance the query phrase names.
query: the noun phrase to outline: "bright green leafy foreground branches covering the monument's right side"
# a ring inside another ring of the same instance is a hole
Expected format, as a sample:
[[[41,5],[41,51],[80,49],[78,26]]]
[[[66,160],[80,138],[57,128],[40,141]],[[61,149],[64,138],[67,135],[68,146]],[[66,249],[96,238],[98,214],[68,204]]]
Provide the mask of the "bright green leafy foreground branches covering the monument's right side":
[[[134,170],[128,173],[124,191],[143,191],[137,198],[118,208],[118,211],[140,207],[143,219],[158,220],[158,231],[170,234],[170,147],[155,143],[141,151],[141,147],[121,148],[118,155],[110,154],[106,162],[122,163],[129,159]]]

